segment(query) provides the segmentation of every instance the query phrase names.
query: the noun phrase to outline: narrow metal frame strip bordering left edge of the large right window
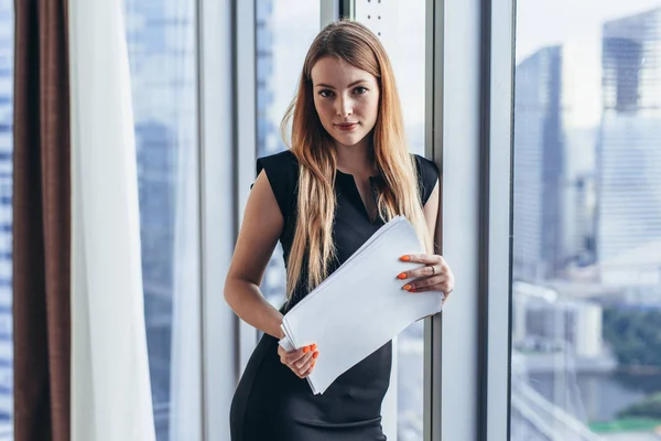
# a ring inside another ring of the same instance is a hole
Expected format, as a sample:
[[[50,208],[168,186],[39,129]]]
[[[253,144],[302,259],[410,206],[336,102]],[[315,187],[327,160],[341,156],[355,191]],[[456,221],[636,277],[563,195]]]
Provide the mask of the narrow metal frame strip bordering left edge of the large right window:
[[[483,3],[479,439],[510,439],[516,0]]]

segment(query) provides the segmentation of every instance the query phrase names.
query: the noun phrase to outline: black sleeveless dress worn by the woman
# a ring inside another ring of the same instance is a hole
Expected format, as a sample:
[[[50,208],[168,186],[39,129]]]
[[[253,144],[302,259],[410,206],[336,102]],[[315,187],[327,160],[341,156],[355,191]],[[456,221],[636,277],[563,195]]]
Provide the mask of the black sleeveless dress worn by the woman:
[[[436,165],[415,155],[423,205],[438,178]],[[280,236],[285,265],[296,219],[299,163],[291,151],[260,158],[257,173],[266,171],[284,217]],[[382,181],[370,178],[372,196]],[[371,222],[350,174],[336,174],[337,212],[333,237],[337,261],[330,272],[354,254],[383,220]],[[305,279],[305,273],[302,279]],[[393,275],[394,277],[394,275]],[[286,313],[305,297],[294,290]],[[264,334],[258,343],[235,392],[230,409],[232,441],[377,441],[386,440],[381,428],[381,402],[390,383],[392,342],[340,375],[323,395],[313,395],[306,379],[280,363],[278,340]]]

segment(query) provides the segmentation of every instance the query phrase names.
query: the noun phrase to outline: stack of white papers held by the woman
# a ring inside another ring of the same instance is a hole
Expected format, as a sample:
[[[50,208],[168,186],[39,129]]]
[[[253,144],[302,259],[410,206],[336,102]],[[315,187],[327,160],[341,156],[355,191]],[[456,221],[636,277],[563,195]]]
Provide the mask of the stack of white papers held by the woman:
[[[397,278],[421,266],[400,257],[421,252],[413,226],[397,216],[284,315],[280,345],[285,351],[317,345],[319,356],[307,376],[315,395],[411,323],[441,311],[443,292],[404,291],[411,280]]]

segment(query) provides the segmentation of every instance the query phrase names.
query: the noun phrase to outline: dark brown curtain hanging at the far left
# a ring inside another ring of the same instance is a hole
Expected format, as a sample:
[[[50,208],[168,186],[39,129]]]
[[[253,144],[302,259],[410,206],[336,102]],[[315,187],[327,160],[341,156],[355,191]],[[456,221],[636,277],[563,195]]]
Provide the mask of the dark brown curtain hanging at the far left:
[[[71,434],[66,0],[15,0],[14,439]]]

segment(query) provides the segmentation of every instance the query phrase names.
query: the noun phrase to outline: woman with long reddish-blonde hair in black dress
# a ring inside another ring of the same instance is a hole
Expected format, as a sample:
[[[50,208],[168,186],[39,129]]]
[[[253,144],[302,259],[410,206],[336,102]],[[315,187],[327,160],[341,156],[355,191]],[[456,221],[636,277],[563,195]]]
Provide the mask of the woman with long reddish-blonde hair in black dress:
[[[280,324],[283,314],[398,214],[413,224],[429,254],[402,256],[421,266],[393,278],[415,295],[430,290],[449,294],[454,277],[433,252],[438,172],[431,161],[408,152],[392,67],[379,40],[359,23],[332,23],[314,40],[283,133],[290,120],[291,149],[258,160],[227,275],[227,302],[264,332],[232,400],[231,439],[384,440],[381,401],[392,344],[315,396],[304,378],[323,348],[285,353],[278,345]],[[280,311],[259,291],[278,240],[288,293]]]

